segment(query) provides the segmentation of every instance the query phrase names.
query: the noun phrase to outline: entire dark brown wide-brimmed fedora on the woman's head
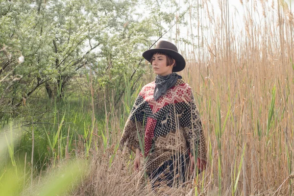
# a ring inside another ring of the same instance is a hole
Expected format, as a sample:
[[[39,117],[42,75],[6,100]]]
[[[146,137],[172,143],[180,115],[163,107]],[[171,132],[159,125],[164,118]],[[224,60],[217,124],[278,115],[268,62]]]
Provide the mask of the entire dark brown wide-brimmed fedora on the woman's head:
[[[143,53],[143,57],[150,62],[152,56],[156,52],[162,52],[170,55],[176,62],[176,66],[172,68],[172,72],[180,72],[185,66],[186,62],[184,57],[178,53],[178,50],[174,44],[167,41],[159,41],[154,49],[148,49]]]

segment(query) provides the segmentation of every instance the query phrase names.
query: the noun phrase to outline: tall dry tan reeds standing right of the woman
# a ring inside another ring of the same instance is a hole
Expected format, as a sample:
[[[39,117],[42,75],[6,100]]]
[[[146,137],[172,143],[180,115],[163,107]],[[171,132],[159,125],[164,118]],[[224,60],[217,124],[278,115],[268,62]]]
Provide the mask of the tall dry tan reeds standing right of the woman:
[[[244,2],[245,28],[235,33],[230,18],[234,14],[228,15],[226,2],[222,1],[223,21],[210,21],[216,33],[206,37],[213,42],[203,44],[198,62],[188,65],[184,73],[198,98],[211,147],[207,180],[215,176],[215,184],[219,175],[214,134],[218,98],[221,125],[229,114],[221,138],[222,193],[232,189],[235,164],[239,164],[246,144],[238,193],[293,195],[293,185],[287,179],[293,174],[294,69],[290,60],[294,58],[293,19],[281,2],[275,2],[278,5],[274,9],[263,2],[260,22],[254,20],[256,13],[250,9],[251,5]],[[269,126],[274,86],[275,102]]]

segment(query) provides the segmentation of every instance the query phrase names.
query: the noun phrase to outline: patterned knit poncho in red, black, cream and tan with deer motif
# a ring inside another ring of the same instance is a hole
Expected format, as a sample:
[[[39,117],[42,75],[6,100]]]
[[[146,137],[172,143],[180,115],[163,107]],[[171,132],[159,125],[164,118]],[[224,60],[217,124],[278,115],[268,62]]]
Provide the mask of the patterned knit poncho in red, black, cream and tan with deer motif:
[[[120,146],[135,152],[140,149],[141,139],[147,172],[178,152],[206,160],[205,139],[191,87],[178,79],[157,100],[153,98],[154,88],[155,82],[142,88],[125,123]]]

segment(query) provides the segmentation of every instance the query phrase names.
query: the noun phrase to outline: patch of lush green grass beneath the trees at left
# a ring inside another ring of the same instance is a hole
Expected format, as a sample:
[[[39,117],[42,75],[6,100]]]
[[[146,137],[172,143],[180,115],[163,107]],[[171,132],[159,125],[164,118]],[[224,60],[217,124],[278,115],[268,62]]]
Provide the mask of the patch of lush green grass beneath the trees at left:
[[[34,129],[33,159],[36,172],[60,163],[66,154],[68,154],[67,158],[73,157],[75,155],[73,152],[83,156],[87,152],[87,147],[93,147],[89,142],[89,139],[92,139],[90,138],[92,116],[86,105],[89,100],[72,98],[68,101],[70,103],[63,101],[42,103],[40,101],[37,105],[42,105],[42,107],[37,113],[15,121],[15,123],[22,124],[20,130],[23,133],[19,138],[19,144],[14,147],[16,160],[23,159],[25,153],[27,153],[27,160],[31,160],[32,127]],[[29,102],[27,104],[30,105]],[[84,135],[84,130],[89,134]],[[12,146],[8,135],[7,138]],[[79,148],[78,145],[80,145]]]

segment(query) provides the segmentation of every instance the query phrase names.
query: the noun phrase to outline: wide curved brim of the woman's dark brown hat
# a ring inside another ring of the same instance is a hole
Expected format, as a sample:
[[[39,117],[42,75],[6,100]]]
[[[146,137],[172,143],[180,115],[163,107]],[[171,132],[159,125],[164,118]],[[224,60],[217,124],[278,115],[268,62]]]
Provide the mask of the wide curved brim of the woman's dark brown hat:
[[[185,61],[184,57],[172,49],[148,49],[142,55],[147,61],[150,62],[153,54],[156,52],[162,52],[162,53],[166,53],[166,54],[169,54],[170,56],[172,56],[172,58],[176,62],[176,66],[172,68],[172,72],[180,72],[185,68],[186,61]]]

